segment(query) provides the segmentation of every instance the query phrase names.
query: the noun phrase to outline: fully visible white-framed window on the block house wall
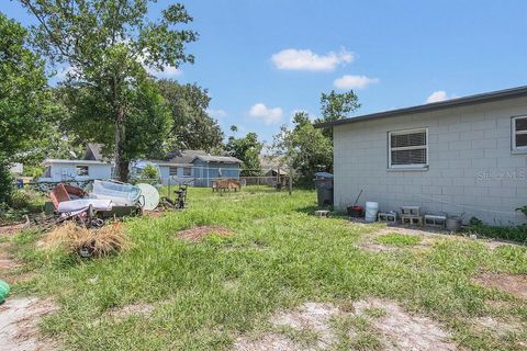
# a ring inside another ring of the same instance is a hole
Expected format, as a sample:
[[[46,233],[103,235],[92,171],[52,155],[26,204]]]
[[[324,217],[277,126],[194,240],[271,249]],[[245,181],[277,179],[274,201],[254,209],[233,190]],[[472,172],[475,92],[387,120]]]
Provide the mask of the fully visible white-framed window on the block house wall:
[[[428,165],[428,129],[388,133],[389,168],[424,168]]]

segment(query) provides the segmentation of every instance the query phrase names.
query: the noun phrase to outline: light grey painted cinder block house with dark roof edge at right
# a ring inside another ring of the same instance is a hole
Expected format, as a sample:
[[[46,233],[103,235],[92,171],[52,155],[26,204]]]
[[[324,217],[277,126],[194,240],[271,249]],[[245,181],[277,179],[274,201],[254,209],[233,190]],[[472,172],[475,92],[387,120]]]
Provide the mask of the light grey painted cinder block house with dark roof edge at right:
[[[335,205],[526,223],[527,87],[317,124],[334,129]]]

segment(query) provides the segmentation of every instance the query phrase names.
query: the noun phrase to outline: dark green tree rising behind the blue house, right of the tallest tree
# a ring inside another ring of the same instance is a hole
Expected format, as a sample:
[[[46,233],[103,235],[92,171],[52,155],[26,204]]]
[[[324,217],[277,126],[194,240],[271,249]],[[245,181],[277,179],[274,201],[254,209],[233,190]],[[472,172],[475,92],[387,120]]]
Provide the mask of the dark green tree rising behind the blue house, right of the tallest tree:
[[[157,83],[171,111],[170,136],[177,148],[211,151],[222,146],[222,128],[206,112],[211,101],[206,89],[166,79]]]

